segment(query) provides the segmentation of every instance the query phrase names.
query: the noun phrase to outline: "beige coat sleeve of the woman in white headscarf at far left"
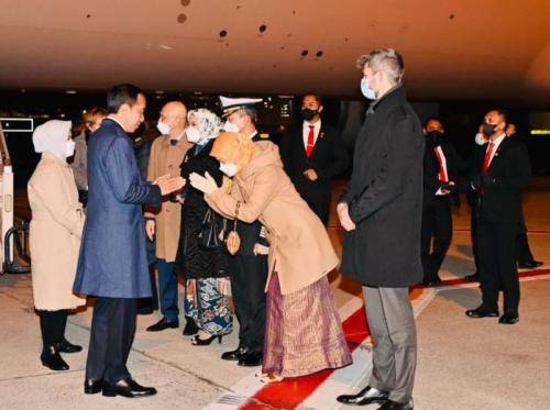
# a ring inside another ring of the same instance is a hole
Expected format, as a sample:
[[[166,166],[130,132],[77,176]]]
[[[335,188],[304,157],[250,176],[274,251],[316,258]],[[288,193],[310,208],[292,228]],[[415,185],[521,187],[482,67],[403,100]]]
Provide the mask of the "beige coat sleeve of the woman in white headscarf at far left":
[[[85,220],[82,204],[73,202],[67,197],[66,192],[70,187],[65,186],[67,181],[64,175],[54,167],[44,167],[30,184],[36,193],[36,199],[42,202],[54,221],[80,239]]]

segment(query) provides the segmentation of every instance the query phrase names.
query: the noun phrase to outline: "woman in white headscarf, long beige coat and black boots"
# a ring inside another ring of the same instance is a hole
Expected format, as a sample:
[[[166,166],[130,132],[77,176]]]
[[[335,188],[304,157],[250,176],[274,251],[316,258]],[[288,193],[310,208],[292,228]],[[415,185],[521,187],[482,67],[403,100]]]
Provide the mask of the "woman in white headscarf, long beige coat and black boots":
[[[65,339],[67,310],[86,303],[73,293],[85,217],[66,160],[75,148],[70,121],[52,120],[37,126],[33,144],[42,154],[28,185],[33,298],[43,341],[41,361],[53,370],[67,370],[69,366],[59,352],[82,350]]]

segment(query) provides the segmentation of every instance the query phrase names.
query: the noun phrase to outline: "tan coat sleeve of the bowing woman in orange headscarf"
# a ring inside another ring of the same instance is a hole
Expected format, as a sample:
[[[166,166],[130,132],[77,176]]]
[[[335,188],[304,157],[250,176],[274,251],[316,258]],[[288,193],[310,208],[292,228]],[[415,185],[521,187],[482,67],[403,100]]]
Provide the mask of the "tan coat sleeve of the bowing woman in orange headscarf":
[[[252,178],[254,178],[252,185],[246,187],[250,190],[250,197],[248,201],[241,201],[238,218],[248,223],[256,221],[276,195],[274,187],[277,177],[273,169],[266,167],[254,174]],[[205,196],[205,200],[218,213],[234,219],[238,197],[228,195],[220,188]]]

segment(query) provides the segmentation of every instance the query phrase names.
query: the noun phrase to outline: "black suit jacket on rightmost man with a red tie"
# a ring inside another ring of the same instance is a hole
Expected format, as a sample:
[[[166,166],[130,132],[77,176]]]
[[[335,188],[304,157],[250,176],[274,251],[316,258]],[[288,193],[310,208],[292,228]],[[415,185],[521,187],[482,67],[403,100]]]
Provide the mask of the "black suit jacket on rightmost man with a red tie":
[[[483,174],[487,144],[474,152],[472,178]],[[479,215],[494,223],[519,224],[521,220],[521,191],[531,179],[531,165],[525,144],[505,137],[495,152],[474,200]]]

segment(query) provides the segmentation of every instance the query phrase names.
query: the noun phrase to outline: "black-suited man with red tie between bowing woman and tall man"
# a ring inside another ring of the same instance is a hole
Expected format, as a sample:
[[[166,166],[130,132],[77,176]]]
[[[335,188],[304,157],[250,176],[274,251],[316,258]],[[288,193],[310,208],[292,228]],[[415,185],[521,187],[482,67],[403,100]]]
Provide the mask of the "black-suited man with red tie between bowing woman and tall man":
[[[338,131],[321,121],[322,109],[320,96],[304,96],[304,122],[289,129],[283,136],[280,158],[296,190],[327,225],[330,181],[348,168],[350,157]]]

